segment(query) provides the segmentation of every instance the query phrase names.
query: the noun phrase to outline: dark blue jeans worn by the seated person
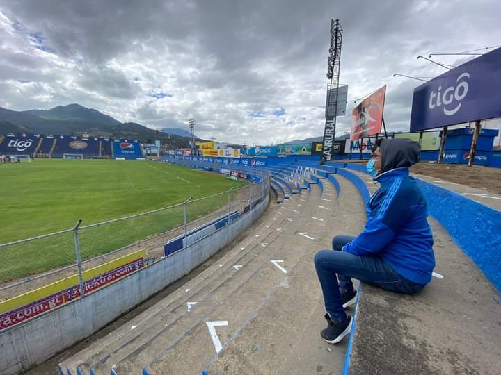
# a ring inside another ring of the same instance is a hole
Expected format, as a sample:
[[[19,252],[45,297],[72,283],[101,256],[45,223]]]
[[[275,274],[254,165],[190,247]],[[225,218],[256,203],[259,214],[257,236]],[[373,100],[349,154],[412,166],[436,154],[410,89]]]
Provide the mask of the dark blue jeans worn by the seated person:
[[[397,293],[413,294],[424,288],[424,285],[397,274],[379,256],[356,256],[342,252],[342,247],[354,239],[351,235],[337,235],[333,238],[333,249],[336,251],[321,250],[315,254],[315,269],[324,293],[325,307],[333,322],[348,319],[342,307],[341,293],[353,292],[352,277]]]

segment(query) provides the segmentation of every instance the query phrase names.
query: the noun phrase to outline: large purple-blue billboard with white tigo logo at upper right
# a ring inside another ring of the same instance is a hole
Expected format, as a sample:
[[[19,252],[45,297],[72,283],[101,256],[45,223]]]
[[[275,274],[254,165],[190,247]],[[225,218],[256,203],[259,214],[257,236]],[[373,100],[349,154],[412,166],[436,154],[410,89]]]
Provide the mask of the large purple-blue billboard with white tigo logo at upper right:
[[[501,48],[414,89],[411,132],[501,117]]]

